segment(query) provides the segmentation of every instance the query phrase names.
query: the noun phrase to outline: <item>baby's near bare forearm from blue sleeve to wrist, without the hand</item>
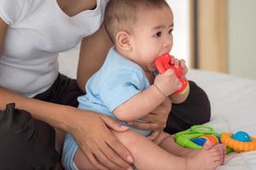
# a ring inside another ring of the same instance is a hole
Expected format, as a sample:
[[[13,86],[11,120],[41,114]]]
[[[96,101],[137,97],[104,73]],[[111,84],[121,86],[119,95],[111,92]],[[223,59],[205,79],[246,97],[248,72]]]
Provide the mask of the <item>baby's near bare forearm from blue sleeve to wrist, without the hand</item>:
[[[143,92],[127,100],[124,104],[119,105],[113,111],[113,115],[121,121],[135,121],[148,115],[149,112],[154,111],[165,99],[166,96],[161,94],[159,89],[154,85],[151,85]]]

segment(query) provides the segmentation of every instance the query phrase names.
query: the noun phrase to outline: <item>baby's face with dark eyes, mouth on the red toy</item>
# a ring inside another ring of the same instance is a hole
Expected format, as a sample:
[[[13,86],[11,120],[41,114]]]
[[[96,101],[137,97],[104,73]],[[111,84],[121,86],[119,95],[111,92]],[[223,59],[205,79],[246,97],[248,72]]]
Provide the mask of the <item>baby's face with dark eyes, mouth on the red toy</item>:
[[[131,34],[133,59],[145,71],[154,71],[154,59],[172,49],[173,15],[171,8],[151,8],[137,14]]]

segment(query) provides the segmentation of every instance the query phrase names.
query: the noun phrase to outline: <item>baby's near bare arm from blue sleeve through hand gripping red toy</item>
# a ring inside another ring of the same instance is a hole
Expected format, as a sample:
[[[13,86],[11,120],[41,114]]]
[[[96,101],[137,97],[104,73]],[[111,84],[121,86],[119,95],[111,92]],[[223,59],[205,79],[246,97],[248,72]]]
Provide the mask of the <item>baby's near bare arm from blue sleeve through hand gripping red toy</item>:
[[[179,81],[175,81],[175,77],[172,69],[165,71],[164,74],[157,75],[154,78],[153,85],[119,105],[113,111],[113,115],[124,122],[135,121],[148,115],[162,104],[166,97],[177,91]]]

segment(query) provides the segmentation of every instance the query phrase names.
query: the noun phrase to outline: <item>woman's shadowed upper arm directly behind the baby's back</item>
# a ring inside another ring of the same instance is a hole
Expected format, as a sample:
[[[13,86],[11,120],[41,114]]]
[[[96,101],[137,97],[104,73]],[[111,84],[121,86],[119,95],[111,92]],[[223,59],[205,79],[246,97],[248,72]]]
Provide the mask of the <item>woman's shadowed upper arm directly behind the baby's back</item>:
[[[88,79],[102,66],[112,43],[104,26],[89,37],[84,37],[80,47],[77,81],[83,91]]]

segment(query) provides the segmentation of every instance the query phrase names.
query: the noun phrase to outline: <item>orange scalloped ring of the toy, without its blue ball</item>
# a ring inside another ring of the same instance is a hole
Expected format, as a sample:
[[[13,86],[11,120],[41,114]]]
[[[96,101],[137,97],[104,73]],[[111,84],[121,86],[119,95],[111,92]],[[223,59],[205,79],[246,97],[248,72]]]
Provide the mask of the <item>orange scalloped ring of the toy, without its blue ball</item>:
[[[251,141],[242,142],[232,139],[232,133],[222,133],[221,142],[236,152],[256,150],[256,139],[251,137]]]

